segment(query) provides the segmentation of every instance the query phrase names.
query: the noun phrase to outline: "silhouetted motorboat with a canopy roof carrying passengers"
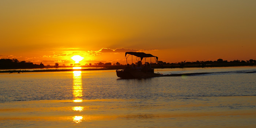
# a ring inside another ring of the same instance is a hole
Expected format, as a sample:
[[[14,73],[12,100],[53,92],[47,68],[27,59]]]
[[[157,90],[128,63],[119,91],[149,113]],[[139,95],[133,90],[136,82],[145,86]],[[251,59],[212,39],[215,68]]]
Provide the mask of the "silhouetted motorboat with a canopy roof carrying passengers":
[[[127,56],[128,55],[128,56]],[[151,57],[153,57],[156,61],[156,63],[158,62],[158,57],[157,56],[153,56],[152,54],[146,54],[143,52],[125,52],[125,58],[126,58],[126,62],[127,62],[127,58],[129,56],[136,56],[139,57],[139,59],[137,60],[137,67],[135,66],[135,64],[132,64],[132,68],[129,67],[129,64],[127,63],[127,67],[123,70],[116,70],[116,75],[119,78],[122,79],[134,79],[134,78],[152,78],[152,77],[158,77],[161,74],[159,73],[154,73],[154,69],[151,68],[151,64],[146,62],[146,58],[150,57],[150,62],[151,62]],[[143,68],[140,68],[139,66],[142,65],[142,60],[143,58],[145,59],[145,64]]]

